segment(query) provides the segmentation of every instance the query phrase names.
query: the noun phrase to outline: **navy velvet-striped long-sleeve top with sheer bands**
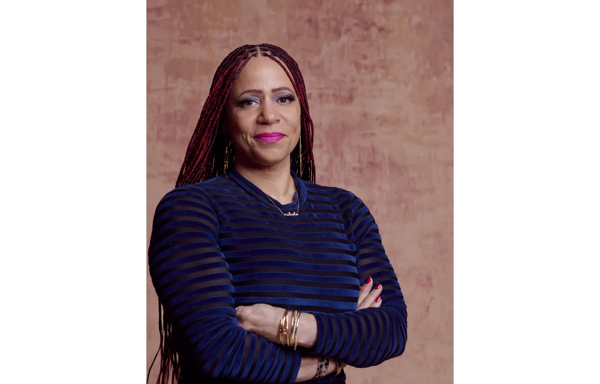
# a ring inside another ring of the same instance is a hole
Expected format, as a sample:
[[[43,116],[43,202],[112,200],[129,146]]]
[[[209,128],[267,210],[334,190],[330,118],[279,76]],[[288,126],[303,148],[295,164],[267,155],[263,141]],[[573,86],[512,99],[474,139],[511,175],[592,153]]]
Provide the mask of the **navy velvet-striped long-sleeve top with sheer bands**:
[[[286,205],[235,169],[158,203],[149,267],[173,323],[182,384],[293,383],[302,354],[370,367],[404,352],[406,304],[367,206],[292,177],[298,197]],[[275,206],[296,212],[298,200],[297,216]],[[382,305],[357,310],[369,276],[383,286]],[[235,307],[257,303],[314,314],[316,347],[294,351],[245,331]]]

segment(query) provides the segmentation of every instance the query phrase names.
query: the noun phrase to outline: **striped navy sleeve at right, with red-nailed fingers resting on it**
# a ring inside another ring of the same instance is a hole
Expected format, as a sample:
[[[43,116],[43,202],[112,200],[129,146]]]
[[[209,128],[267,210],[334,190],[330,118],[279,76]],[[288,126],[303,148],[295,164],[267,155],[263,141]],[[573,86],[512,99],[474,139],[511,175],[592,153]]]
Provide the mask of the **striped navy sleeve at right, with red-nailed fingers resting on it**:
[[[360,284],[369,276],[373,287],[382,284],[382,305],[340,314],[313,313],[319,336],[316,355],[331,356],[365,368],[400,356],[406,347],[406,303],[398,278],[383,249],[373,215],[350,192],[352,233]]]

